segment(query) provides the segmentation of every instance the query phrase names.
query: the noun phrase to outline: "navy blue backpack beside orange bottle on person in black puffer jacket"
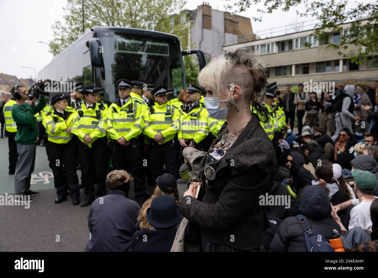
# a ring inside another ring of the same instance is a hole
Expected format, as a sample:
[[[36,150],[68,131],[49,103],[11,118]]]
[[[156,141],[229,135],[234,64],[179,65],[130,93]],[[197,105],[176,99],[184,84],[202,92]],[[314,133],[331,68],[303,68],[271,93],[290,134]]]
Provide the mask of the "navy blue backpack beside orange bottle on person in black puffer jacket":
[[[312,229],[303,214],[299,214],[295,218],[303,230],[307,252],[335,252],[328,239],[317,230]],[[318,239],[320,240],[318,241]]]

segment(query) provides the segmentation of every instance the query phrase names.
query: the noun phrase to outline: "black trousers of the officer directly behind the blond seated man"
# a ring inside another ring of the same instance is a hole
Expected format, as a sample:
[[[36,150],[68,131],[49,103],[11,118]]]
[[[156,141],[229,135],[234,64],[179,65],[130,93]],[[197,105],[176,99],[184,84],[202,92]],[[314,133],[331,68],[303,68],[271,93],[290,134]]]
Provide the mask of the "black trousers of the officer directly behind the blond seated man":
[[[134,178],[135,199],[137,202],[146,200],[146,183],[143,166],[143,141],[141,138],[131,139],[130,145],[113,144],[112,162],[115,170],[125,170]],[[148,164],[148,161],[147,161]],[[130,188],[129,188],[130,189]],[[127,191],[126,197],[128,197]]]

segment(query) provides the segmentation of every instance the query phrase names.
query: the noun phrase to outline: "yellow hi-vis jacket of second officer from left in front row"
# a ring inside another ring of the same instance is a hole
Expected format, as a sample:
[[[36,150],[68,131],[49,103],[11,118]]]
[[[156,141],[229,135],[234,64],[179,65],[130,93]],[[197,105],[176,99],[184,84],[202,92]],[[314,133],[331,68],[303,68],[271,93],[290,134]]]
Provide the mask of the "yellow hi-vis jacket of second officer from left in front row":
[[[98,103],[93,103],[95,109],[89,108],[85,103],[75,112],[76,119],[71,132],[79,137],[81,142],[84,142],[84,137],[89,135],[93,140],[88,143],[88,147],[92,147],[93,142],[106,135],[106,113],[104,106]]]

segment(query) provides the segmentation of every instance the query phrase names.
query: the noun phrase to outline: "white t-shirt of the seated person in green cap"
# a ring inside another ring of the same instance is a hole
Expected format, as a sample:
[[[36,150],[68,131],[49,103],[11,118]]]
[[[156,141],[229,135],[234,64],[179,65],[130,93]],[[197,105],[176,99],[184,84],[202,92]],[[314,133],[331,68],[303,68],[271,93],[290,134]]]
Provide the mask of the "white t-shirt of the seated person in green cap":
[[[374,196],[377,198],[376,196]],[[360,202],[359,199],[351,199],[355,205],[350,210],[350,220],[348,230],[354,227],[361,227],[364,230],[372,230],[372,220],[370,219],[370,205],[372,202]]]

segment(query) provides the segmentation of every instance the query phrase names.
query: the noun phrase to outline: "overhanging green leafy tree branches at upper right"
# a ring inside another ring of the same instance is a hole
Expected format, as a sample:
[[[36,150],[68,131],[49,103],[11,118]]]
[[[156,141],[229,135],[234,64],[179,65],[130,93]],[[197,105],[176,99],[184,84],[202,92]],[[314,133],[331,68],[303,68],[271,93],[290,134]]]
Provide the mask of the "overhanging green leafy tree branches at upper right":
[[[252,17],[254,21],[261,21],[265,13],[296,9],[301,17],[310,15],[319,20],[313,32],[318,41],[323,41],[328,44],[328,47],[337,49],[339,55],[352,62],[366,62],[372,54],[378,52],[377,2],[356,3],[353,8],[350,8],[347,4],[352,1],[348,0],[238,0],[234,5],[226,4],[225,8],[242,12],[260,2],[263,2],[266,8],[256,9],[261,15]],[[304,5],[304,9],[298,11],[298,6],[301,4]],[[361,20],[361,17],[365,17],[364,20]],[[343,34],[341,24],[347,22],[351,22],[349,31]],[[332,32],[340,32],[342,35],[339,43],[329,42],[328,37]],[[353,45],[356,47],[350,47]],[[308,44],[307,46],[310,47]],[[378,57],[373,56],[373,60],[376,59]]]

